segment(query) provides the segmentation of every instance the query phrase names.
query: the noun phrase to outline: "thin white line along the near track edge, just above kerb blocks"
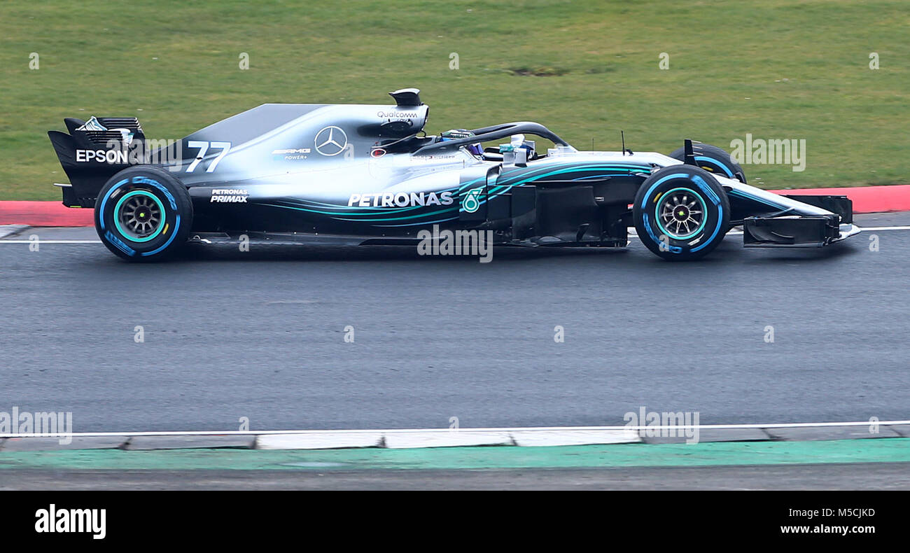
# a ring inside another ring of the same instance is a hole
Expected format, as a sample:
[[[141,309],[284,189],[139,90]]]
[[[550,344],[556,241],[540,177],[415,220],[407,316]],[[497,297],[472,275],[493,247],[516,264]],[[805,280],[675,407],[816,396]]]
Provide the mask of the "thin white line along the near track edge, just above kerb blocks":
[[[319,435],[319,434],[353,434],[353,433],[412,433],[412,432],[576,432],[581,430],[663,430],[672,428],[804,428],[804,427],[868,427],[871,425],[894,426],[910,425],[910,420],[860,420],[854,422],[797,422],[767,423],[748,425],[679,425],[679,426],[643,426],[643,427],[501,427],[501,428],[359,428],[339,430],[188,430],[156,432],[74,432],[72,434],[41,434],[40,437],[107,437],[107,436],[264,436],[281,434]],[[0,434],[3,437],[35,437],[35,434]]]

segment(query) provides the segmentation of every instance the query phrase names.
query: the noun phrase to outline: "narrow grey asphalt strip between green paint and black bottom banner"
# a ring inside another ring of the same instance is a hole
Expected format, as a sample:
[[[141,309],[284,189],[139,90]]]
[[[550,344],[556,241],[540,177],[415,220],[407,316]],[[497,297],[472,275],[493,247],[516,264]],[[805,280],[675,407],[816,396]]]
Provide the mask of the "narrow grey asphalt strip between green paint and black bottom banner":
[[[10,489],[910,489],[906,463],[777,467],[623,467],[511,470],[0,471]]]

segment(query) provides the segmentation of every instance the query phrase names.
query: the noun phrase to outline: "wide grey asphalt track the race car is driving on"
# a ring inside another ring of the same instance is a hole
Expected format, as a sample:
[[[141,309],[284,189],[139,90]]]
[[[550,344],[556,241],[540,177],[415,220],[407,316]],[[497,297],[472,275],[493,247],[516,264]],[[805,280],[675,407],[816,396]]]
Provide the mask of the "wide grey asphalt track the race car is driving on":
[[[240,417],[250,429],[622,425],[641,406],[701,424],[906,419],[908,240],[883,230],[782,250],[727,236],[687,264],[635,239],[496,250],[489,264],[410,247],[194,246],[134,265],[100,244],[4,244],[0,411],[71,411],[76,432],[236,430]]]

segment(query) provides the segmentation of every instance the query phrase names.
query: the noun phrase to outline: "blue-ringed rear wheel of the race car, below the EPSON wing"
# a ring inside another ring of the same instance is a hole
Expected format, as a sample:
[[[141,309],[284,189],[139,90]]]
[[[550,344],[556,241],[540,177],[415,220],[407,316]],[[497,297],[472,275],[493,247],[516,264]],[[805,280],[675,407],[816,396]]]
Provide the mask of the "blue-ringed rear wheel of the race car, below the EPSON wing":
[[[112,176],[95,202],[95,229],[107,249],[129,261],[157,261],[187,242],[193,204],[187,187],[156,166]]]

